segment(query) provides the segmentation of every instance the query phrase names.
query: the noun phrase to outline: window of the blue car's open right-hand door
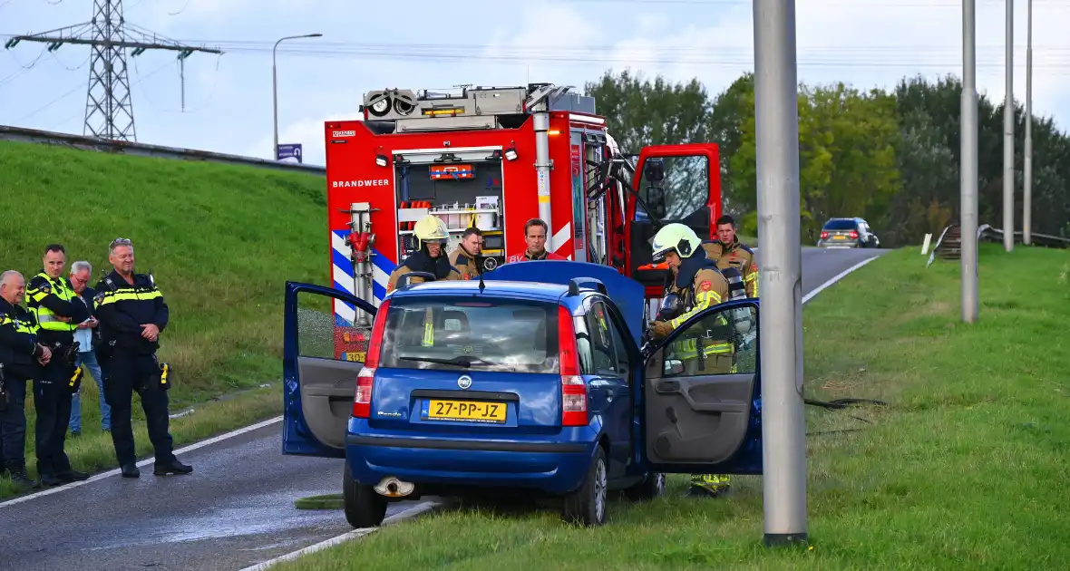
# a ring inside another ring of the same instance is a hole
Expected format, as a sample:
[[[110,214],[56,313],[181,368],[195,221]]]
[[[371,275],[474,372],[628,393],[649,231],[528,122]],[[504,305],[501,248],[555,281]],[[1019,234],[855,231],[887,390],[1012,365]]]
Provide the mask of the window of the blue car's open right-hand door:
[[[758,308],[707,311],[661,351],[663,377],[753,374]]]

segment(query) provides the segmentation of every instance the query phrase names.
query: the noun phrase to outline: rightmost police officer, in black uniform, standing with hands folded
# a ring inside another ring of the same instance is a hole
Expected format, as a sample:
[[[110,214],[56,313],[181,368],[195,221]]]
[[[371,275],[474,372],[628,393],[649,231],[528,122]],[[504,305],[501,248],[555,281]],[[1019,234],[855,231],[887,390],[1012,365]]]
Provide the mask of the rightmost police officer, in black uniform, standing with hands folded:
[[[116,238],[108,247],[114,268],[96,284],[96,317],[101,346],[97,357],[104,370],[104,396],[111,406],[111,442],[124,478],[137,478],[134,430],[131,427],[132,399],[141,397],[149,439],[155,451],[153,474],[189,474],[193,466],[174,457],[168,433],[166,364],[156,358],[159,334],[167,327],[170,311],[152,275],[134,273],[134,244]]]

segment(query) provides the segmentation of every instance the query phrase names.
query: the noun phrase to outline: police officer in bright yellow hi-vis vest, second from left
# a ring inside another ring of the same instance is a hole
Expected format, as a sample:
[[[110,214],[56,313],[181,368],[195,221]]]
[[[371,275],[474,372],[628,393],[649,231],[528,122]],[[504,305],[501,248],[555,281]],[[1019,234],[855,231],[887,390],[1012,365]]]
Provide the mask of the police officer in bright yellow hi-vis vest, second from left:
[[[33,381],[33,407],[37,413],[34,441],[41,483],[59,485],[89,478],[71,468],[71,459],[63,451],[71,421],[71,395],[81,383],[81,369],[75,367],[78,346],[74,331],[89,319],[89,311],[75,299],[74,287],[63,274],[66,250],[61,244],[45,248],[42,265],[41,273],[27,284],[26,305],[37,320],[37,340],[51,350],[54,358]]]

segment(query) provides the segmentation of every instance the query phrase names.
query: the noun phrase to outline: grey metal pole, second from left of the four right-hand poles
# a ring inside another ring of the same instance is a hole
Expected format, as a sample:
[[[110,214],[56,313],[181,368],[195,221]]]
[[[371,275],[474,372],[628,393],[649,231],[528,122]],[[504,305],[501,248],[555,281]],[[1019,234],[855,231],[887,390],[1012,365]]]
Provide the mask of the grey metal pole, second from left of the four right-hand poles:
[[[962,0],[962,118],[960,121],[959,264],[962,321],[977,322],[977,6]]]

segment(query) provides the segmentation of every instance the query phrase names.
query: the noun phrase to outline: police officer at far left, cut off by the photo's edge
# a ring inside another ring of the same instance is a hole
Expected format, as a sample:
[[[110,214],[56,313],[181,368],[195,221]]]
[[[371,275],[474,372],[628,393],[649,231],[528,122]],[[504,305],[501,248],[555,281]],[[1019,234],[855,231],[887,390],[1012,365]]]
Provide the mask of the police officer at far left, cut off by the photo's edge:
[[[0,275],[0,474],[24,491],[33,487],[26,476],[26,384],[51,358],[37,342],[37,320],[19,305],[25,294],[21,274]]]

